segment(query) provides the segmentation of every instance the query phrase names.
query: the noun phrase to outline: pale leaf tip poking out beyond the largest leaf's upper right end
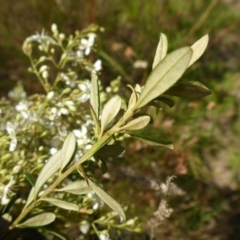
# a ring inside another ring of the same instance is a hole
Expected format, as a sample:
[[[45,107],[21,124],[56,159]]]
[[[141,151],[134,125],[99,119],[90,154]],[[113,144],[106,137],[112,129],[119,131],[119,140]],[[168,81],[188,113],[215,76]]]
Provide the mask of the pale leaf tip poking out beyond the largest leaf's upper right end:
[[[193,54],[188,64],[188,67],[191,66],[193,63],[195,63],[202,56],[205,49],[207,48],[208,40],[209,40],[209,36],[205,35],[191,46],[191,49],[193,50]]]

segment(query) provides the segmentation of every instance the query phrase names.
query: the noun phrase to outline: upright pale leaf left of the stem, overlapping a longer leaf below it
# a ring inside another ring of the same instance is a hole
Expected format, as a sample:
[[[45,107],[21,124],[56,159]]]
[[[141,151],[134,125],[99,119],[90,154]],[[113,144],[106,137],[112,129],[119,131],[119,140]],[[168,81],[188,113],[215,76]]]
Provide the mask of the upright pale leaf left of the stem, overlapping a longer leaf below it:
[[[75,152],[76,149],[76,138],[74,133],[70,132],[67,136],[67,138],[65,139],[64,143],[63,143],[63,147],[62,147],[62,160],[61,160],[61,169],[60,171],[62,171],[70,162],[70,160],[73,157],[73,154]]]

